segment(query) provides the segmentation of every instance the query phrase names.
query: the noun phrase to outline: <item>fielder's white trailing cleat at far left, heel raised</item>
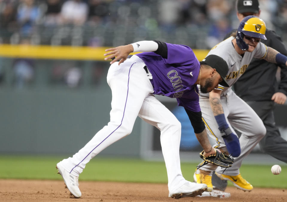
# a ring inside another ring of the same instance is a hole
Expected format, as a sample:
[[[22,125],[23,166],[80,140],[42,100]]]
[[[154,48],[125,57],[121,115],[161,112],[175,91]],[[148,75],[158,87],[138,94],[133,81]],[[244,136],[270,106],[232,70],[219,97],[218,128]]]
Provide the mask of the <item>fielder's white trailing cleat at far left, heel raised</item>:
[[[61,162],[57,163],[58,173],[62,176],[67,188],[74,195],[76,198],[80,198],[82,193],[79,189],[79,177],[70,174],[66,171],[60,164]]]

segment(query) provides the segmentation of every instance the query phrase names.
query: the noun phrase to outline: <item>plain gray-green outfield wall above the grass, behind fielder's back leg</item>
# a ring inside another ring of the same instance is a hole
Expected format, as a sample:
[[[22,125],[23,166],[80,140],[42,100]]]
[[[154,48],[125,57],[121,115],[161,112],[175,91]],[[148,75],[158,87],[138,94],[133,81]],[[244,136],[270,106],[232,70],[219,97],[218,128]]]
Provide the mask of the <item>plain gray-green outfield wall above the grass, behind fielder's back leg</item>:
[[[110,91],[0,90],[0,152],[73,154],[109,121]],[[139,155],[139,123],[103,154]]]

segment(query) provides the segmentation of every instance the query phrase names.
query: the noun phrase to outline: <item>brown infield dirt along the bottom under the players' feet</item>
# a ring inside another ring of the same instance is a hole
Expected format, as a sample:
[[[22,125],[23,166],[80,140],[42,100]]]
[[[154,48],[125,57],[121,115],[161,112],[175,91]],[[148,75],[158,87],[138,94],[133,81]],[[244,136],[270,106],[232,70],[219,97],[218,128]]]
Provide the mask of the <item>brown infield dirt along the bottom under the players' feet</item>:
[[[227,187],[230,198],[194,197],[168,198],[167,184],[79,181],[82,197],[72,198],[63,181],[5,180],[0,179],[0,201],[178,201],[178,202],[283,202],[287,201],[287,189],[254,188],[244,192]]]

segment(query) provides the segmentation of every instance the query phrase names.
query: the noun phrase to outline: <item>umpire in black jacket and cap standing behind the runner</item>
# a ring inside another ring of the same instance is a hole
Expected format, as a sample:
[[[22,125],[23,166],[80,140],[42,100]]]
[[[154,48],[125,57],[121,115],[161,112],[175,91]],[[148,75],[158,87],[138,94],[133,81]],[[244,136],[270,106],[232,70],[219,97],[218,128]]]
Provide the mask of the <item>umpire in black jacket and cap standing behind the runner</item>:
[[[258,0],[237,1],[237,18],[239,22],[246,16],[259,17],[260,13]],[[229,38],[231,33],[228,33],[224,39]],[[283,55],[287,55],[286,47],[280,36],[269,29],[266,29],[265,36],[267,40],[263,40],[262,43],[278,50]],[[275,76],[277,67],[280,67],[279,83]],[[282,64],[253,58],[245,73],[233,85],[233,90],[236,95],[252,107],[266,127],[266,135],[259,142],[260,149],[266,154],[287,163],[287,141],[281,137],[274,118],[276,104],[286,102],[287,69]],[[227,181],[220,180],[213,173],[212,185],[215,189],[225,190]]]

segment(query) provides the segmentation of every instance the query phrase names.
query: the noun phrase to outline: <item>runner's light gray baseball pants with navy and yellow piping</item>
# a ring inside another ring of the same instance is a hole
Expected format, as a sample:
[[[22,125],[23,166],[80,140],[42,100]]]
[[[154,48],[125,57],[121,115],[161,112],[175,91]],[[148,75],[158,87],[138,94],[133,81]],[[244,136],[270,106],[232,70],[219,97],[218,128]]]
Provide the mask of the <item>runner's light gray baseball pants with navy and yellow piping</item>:
[[[234,158],[232,167],[227,168],[225,171],[219,166],[206,164],[200,169],[204,171],[214,171],[221,173],[224,171],[224,175],[239,175],[239,168],[243,159],[252,151],[256,144],[264,137],[266,133],[265,126],[259,116],[254,110],[239,98],[232,90],[221,96],[221,104],[223,107],[224,115],[227,124],[234,134],[234,129],[242,133],[239,138],[241,154],[239,157]],[[207,134],[209,137],[216,141],[213,147],[220,149],[223,152],[227,152],[223,138],[221,137],[218,129],[218,124],[214,118],[209,97],[200,96],[199,104],[201,107],[202,117],[205,122]],[[227,152],[228,153],[228,152]]]

